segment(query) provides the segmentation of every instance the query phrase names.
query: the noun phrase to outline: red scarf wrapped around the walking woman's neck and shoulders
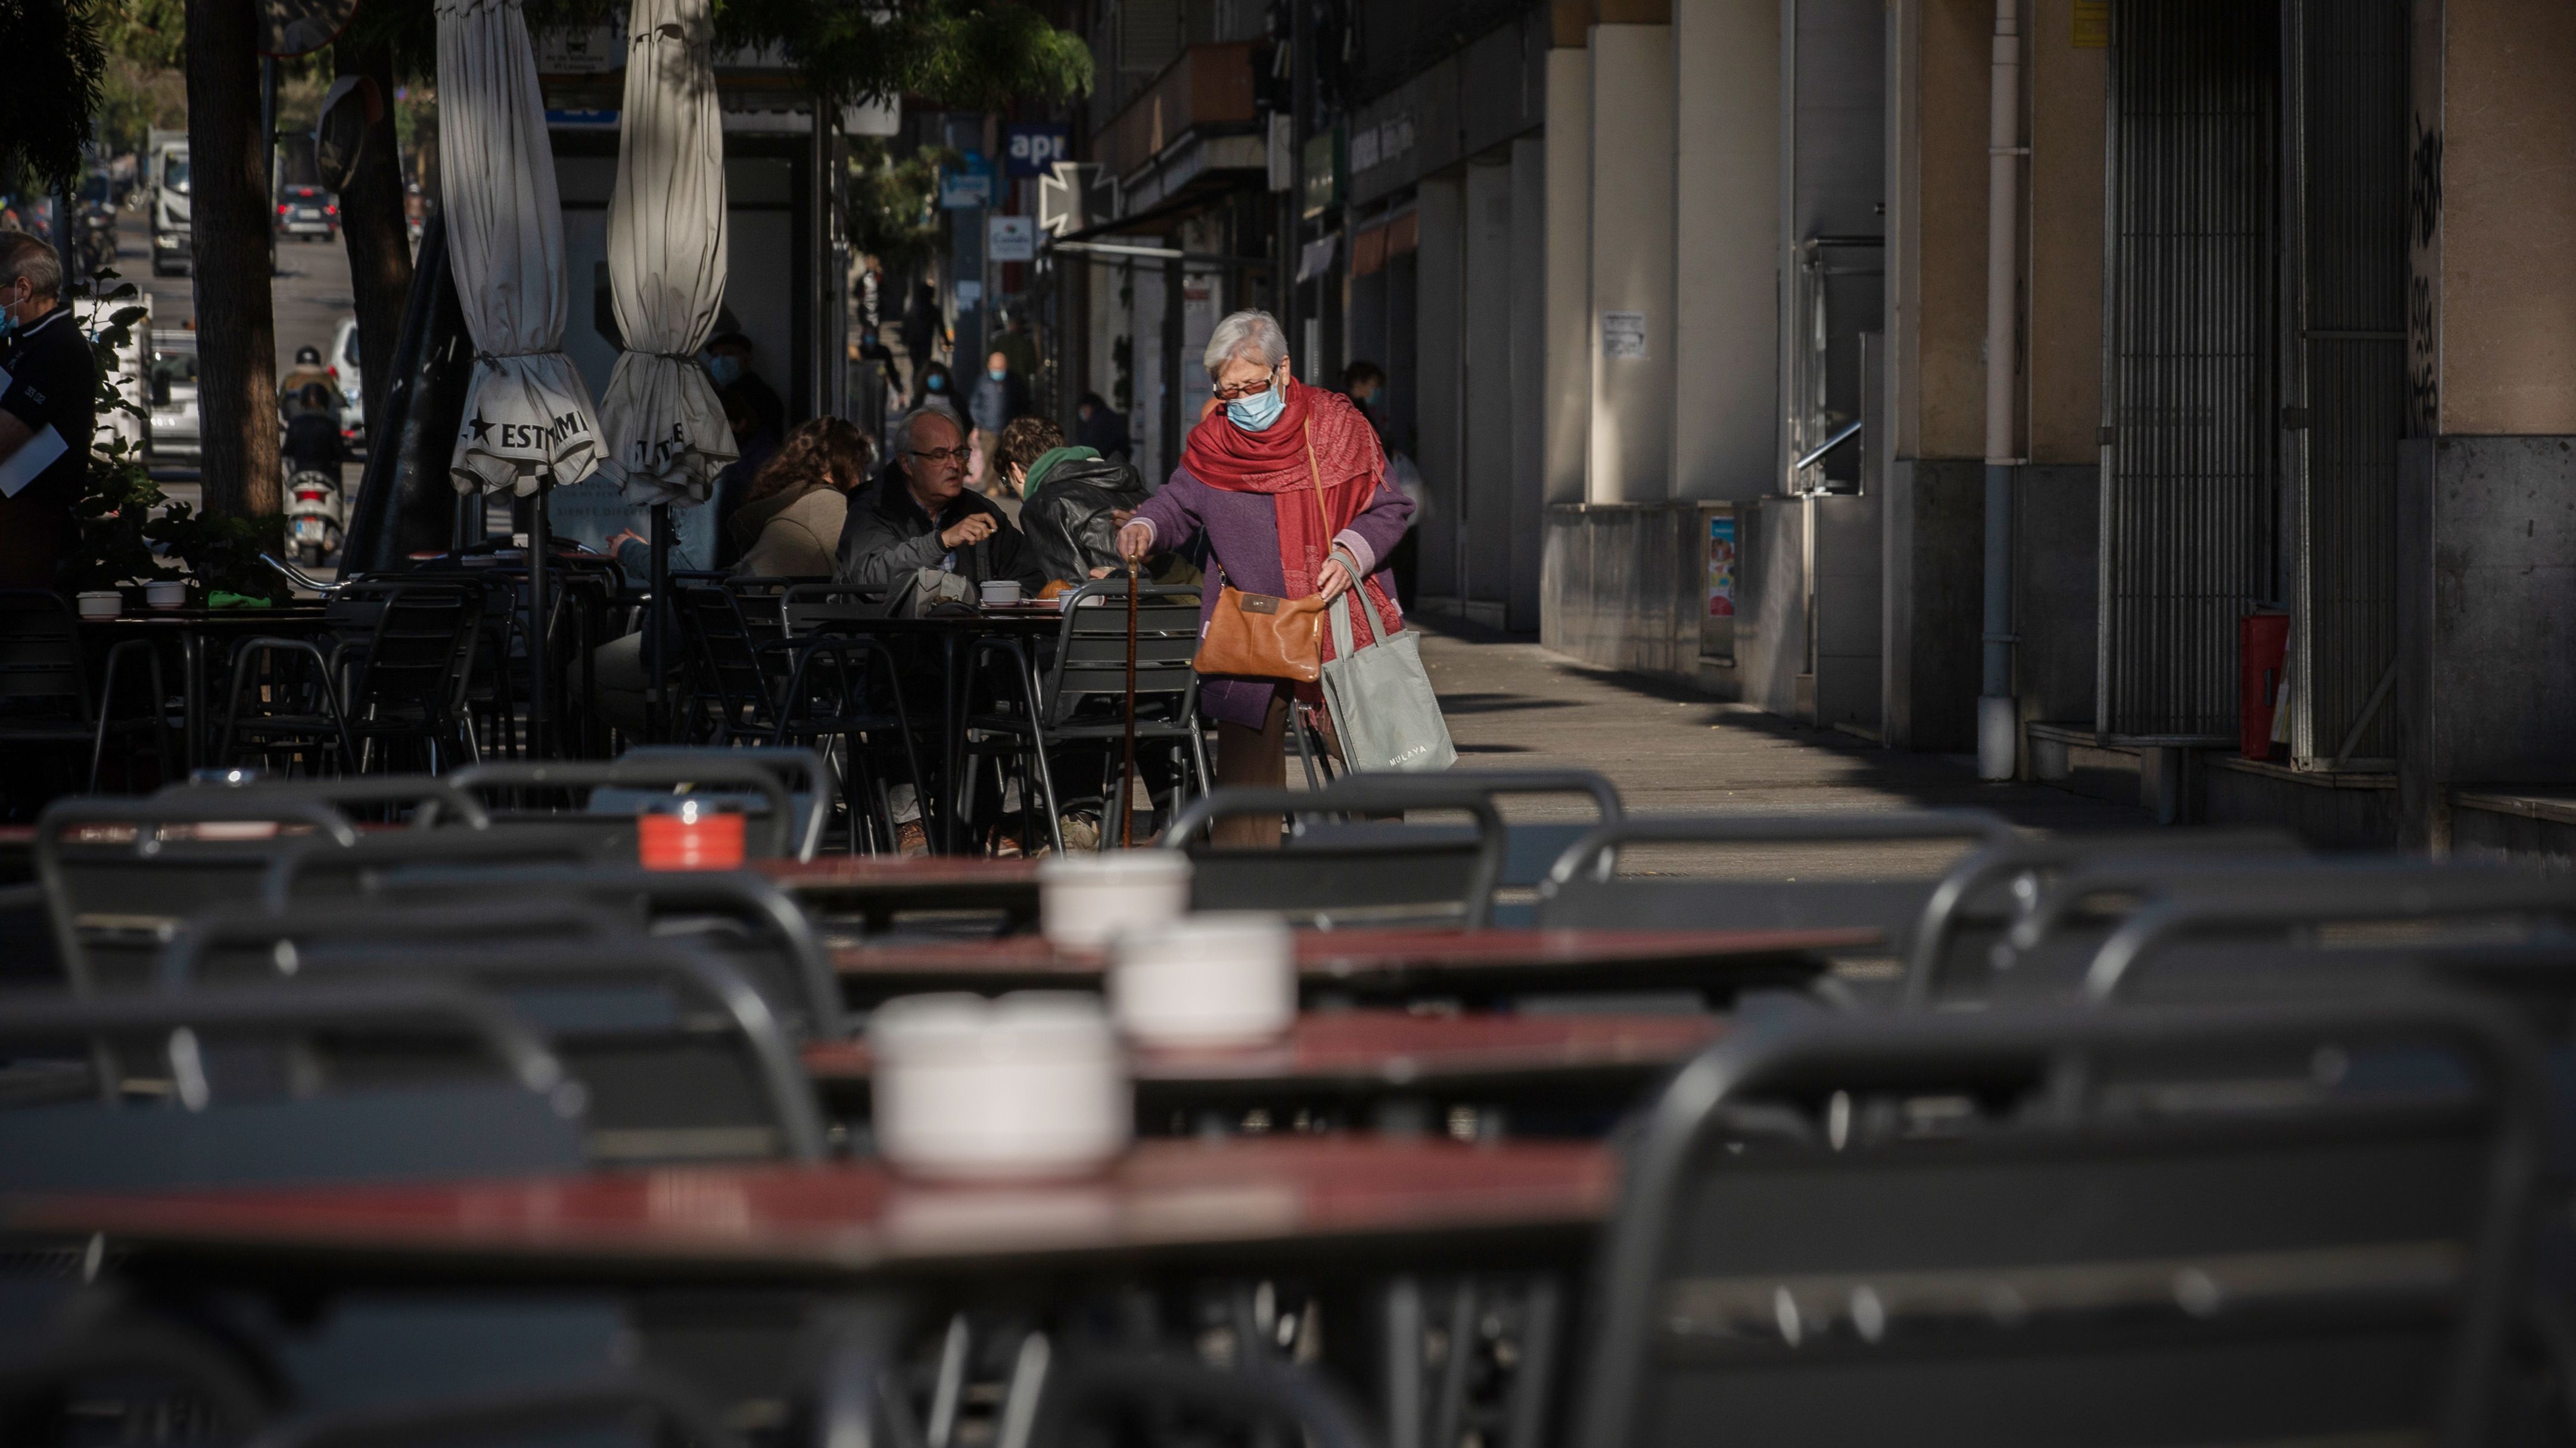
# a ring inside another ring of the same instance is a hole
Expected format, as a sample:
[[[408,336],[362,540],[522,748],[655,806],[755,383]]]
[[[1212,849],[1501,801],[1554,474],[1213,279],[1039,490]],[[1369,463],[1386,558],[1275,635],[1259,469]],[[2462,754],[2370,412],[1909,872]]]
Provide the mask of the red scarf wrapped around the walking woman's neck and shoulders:
[[[1309,464],[1309,441],[1314,443]],[[1332,557],[1332,538],[1350,528],[1350,520],[1378,495],[1386,479],[1386,453],[1368,417],[1340,392],[1288,381],[1288,405],[1278,423],[1260,433],[1247,433],[1226,420],[1216,407],[1190,428],[1190,446],[1180,453],[1180,466],[1208,487],[1226,492],[1267,492],[1278,508],[1280,531],[1280,590],[1288,598],[1309,598],[1324,559]],[[1321,482],[1324,508],[1316,508],[1316,482]],[[1378,634],[1404,631],[1404,616],[1386,598],[1378,580],[1360,580],[1368,608],[1350,611],[1350,631],[1358,647],[1378,642]],[[1332,626],[1324,626],[1324,657],[1329,660]]]

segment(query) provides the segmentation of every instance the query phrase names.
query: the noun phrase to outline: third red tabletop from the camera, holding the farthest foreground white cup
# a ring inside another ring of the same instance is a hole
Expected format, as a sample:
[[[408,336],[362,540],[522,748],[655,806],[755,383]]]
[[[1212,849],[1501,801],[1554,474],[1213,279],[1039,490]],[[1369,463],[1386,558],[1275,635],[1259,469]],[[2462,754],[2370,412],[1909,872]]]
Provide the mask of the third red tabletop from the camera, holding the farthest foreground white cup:
[[[1826,956],[1873,946],[1875,930],[1298,930],[1309,1002],[1461,1000],[1525,995],[1806,989]],[[1043,935],[999,940],[837,946],[832,969],[850,1005],[938,989],[1097,989],[1108,961]]]

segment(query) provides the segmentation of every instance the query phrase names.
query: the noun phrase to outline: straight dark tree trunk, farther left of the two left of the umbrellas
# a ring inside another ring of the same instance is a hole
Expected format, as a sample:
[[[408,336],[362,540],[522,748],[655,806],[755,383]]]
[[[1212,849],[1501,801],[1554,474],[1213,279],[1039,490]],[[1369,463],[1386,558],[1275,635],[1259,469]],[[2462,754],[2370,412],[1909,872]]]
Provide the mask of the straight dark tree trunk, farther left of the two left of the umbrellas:
[[[268,294],[268,137],[258,15],[188,0],[196,407],[209,515],[278,513],[278,340]]]

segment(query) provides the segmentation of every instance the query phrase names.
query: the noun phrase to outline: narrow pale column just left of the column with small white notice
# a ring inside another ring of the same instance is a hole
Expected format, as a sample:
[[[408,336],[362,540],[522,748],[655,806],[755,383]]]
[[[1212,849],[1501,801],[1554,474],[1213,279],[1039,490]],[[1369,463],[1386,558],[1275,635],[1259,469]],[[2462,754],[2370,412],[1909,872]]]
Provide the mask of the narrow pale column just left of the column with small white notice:
[[[1548,502],[1582,502],[1592,472],[1592,52],[1548,52],[1548,361],[1543,477]]]

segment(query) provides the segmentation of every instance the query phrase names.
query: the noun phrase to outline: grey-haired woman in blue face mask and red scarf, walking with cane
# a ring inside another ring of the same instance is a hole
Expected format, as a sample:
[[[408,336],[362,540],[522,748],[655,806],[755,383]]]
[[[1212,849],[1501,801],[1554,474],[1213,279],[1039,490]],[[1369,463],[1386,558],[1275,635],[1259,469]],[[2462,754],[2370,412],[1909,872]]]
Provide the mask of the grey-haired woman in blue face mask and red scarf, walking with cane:
[[[1352,642],[1365,649],[1381,634],[1399,634],[1404,616],[1381,564],[1412,526],[1414,502],[1386,484],[1386,453],[1368,417],[1340,392],[1291,376],[1288,338],[1267,312],[1218,322],[1206,366],[1224,407],[1190,430],[1172,479],[1118,531],[1118,551],[1139,559],[1203,531],[1224,582],[1324,600],[1358,587]],[[1216,587],[1208,587],[1198,605],[1200,631],[1213,608]],[[1324,657],[1334,657],[1332,631]],[[1319,703],[1316,685],[1206,678],[1198,698],[1216,719],[1216,783],[1288,783],[1288,701]],[[1236,817],[1216,824],[1216,840],[1275,845],[1278,830]]]

